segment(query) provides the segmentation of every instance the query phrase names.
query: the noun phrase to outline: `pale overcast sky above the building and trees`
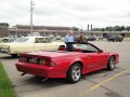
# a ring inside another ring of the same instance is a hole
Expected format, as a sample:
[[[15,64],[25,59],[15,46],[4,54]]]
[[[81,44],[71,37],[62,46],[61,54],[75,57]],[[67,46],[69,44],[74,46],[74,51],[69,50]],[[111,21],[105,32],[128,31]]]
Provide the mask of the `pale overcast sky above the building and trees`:
[[[0,23],[29,25],[30,0],[0,0]],[[34,25],[130,25],[130,0],[34,0]]]

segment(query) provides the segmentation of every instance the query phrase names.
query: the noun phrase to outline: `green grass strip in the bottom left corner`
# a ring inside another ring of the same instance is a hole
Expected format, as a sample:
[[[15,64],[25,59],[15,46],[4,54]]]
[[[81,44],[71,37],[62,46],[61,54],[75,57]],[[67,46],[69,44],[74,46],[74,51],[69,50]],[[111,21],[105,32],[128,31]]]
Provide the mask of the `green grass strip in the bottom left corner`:
[[[0,97],[16,97],[14,88],[0,63]]]

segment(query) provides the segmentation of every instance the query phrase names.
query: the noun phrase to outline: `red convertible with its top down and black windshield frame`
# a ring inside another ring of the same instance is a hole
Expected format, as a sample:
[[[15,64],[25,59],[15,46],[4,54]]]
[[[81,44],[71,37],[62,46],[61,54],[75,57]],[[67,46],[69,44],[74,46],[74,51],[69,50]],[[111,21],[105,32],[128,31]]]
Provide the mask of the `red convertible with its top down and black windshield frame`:
[[[114,70],[119,55],[103,52],[91,43],[70,42],[61,45],[58,51],[40,51],[20,55],[16,63],[18,71],[42,78],[67,78],[72,83],[81,74],[99,69]]]

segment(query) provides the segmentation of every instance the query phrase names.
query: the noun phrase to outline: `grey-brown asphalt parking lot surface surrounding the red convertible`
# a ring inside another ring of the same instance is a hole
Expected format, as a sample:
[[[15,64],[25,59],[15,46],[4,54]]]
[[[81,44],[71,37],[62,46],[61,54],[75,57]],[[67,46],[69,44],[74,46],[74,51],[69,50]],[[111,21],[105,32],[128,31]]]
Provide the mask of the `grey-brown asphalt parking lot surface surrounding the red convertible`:
[[[114,71],[86,74],[77,84],[68,84],[64,79],[43,81],[30,74],[21,77],[15,68],[17,58],[0,54],[0,60],[18,97],[130,97],[130,42],[92,43],[104,51],[119,53],[120,63]]]

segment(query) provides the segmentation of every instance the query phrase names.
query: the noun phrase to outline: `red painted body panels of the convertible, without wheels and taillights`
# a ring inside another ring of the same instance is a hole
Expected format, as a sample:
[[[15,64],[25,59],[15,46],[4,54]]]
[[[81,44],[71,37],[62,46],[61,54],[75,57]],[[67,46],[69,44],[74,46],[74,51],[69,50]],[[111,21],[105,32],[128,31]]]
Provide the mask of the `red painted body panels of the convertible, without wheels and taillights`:
[[[28,54],[37,54],[37,53],[28,53]],[[72,67],[74,63],[80,61],[82,63],[82,74],[95,71],[99,69],[106,68],[108,59],[112,55],[116,56],[116,64],[118,63],[118,54],[116,53],[102,53],[102,54],[92,54],[92,58],[88,58],[87,54],[84,53],[58,53],[58,52],[41,52],[38,54],[49,56],[51,60],[56,65],[54,67],[48,66],[38,66],[38,65],[30,65],[27,63],[17,63],[16,67],[18,71],[46,77],[46,78],[66,78],[67,71]],[[99,55],[102,57],[99,57]]]

